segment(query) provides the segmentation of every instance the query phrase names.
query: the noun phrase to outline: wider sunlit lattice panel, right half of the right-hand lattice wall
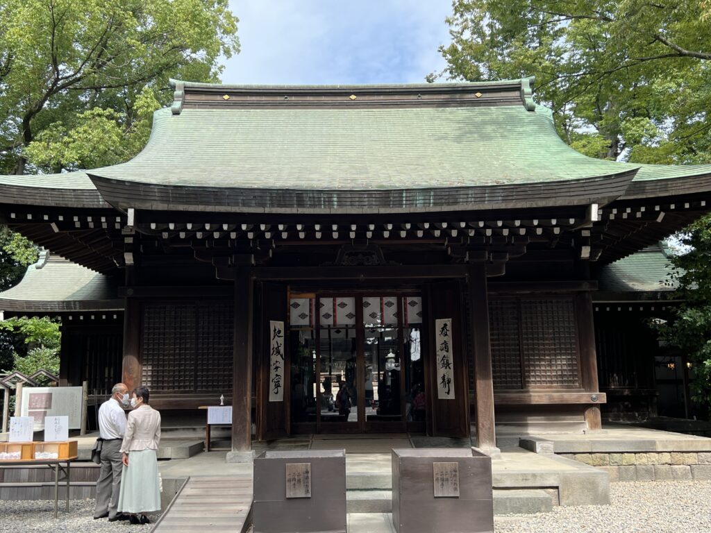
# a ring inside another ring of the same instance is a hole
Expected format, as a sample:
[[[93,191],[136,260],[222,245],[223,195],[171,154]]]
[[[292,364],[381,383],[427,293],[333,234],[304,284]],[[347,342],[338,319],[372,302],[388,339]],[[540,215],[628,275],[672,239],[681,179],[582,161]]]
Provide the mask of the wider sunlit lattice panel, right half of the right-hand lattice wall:
[[[525,298],[520,305],[526,386],[579,387],[572,298]]]

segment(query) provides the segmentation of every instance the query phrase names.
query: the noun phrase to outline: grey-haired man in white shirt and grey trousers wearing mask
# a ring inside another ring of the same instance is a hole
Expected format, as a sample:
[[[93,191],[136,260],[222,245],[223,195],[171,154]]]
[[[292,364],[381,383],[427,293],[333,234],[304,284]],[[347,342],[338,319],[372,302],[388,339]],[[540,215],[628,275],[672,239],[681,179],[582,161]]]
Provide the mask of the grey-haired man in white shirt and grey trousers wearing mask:
[[[129,389],[123,383],[114,385],[111,397],[99,408],[99,433],[104,443],[101,451],[101,471],[96,484],[95,519],[109,517],[109,522],[128,519],[117,512],[123,466],[121,443],[126,432],[124,409],[128,408]]]

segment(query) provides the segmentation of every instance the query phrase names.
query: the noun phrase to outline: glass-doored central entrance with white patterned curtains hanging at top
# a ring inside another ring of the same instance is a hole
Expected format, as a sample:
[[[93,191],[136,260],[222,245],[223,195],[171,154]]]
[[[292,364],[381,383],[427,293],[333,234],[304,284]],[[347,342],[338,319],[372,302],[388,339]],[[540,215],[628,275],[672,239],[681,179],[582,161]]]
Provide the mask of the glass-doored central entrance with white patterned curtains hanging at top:
[[[419,294],[291,294],[294,434],[424,431]]]

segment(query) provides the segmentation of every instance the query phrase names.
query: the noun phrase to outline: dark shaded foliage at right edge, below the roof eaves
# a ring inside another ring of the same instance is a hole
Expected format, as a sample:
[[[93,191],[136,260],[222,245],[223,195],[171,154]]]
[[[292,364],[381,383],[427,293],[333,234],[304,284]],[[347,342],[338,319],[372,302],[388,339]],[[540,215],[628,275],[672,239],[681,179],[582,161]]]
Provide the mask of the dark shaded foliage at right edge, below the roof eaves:
[[[657,325],[661,337],[677,345],[693,364],[695,379],[690,382],[693,399],[711,407],[711,215],[697,220],[681,236],[690,251],[673,257],[675,269],[670,284],[678,284],[677,308],[673,321]]]

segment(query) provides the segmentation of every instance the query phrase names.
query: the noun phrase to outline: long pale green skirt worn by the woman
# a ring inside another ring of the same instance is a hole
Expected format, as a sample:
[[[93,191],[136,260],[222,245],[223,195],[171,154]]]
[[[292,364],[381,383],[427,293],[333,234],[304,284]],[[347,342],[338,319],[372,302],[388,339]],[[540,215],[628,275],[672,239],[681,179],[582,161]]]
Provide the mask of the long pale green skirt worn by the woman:
[[[119,512],[138,514],[161,510],[158,460],[155,450],[132,451],[124,465],[119,492]]]

